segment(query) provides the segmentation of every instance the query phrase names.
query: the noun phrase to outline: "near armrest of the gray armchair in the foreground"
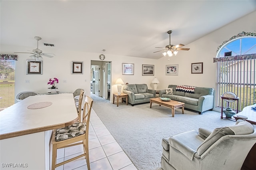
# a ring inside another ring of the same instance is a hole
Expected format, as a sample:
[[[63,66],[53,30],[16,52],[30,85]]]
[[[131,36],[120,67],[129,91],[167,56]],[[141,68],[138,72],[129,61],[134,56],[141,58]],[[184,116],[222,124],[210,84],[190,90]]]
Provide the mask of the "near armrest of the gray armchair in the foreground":
[[[188,145],[184,144],[174,136],[171,136],[169,138],[169,145],[172,148],[175,148],[176,150],[180,151],[182,154],[184,154],[189,160],[192,160],[194,157],[194,154],[196,153],[196,150],[190,148]]]

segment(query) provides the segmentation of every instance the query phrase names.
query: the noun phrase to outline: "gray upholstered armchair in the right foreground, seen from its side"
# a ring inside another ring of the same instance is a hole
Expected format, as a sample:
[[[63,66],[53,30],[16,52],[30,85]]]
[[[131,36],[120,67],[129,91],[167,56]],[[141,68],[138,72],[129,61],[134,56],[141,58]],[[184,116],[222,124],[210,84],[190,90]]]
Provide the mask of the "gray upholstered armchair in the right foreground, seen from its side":
[[[164,170],[240,170],[256,143],[256,125],[242,119],[236,125],[163,138]]]

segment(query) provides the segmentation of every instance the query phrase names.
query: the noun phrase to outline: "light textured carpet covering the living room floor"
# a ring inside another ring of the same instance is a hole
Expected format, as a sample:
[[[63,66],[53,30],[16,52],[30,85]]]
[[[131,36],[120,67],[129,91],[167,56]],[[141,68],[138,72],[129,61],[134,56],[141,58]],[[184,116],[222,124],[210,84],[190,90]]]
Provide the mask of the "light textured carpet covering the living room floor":
[[[220,113],[206,111],[198,115],[196,111],[185,109],[175,110],[175,117],[171,117],[171,109],[152,103],[131,106],[130,104],[110,103],[91,94],[93,109],[110,131],[116,142],[121,146],[138,170],[160,170],[162,156],[162,138],[206,128],[234,125],[235,121],[220,119]]]

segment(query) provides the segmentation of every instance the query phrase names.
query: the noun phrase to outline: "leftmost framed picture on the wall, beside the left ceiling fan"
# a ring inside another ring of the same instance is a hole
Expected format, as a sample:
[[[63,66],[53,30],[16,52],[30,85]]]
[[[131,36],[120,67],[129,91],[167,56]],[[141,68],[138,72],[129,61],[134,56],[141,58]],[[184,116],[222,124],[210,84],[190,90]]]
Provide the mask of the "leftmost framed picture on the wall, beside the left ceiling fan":
[[[27,60],[26,74],[43,74],[43,61]]]

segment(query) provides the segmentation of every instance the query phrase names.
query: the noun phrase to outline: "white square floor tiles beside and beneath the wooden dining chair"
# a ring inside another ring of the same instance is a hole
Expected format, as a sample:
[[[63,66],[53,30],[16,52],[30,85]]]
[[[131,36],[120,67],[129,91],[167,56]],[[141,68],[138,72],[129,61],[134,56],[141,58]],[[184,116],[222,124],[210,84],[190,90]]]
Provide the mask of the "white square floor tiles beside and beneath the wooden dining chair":
[[[82,145],[58,149],[57,163],[84,152]],[[137,170],[131,160],[92,109],[89,127],[89,158],[91,170]],[[84,157],[68,162],[56,170],[87,170]]]

